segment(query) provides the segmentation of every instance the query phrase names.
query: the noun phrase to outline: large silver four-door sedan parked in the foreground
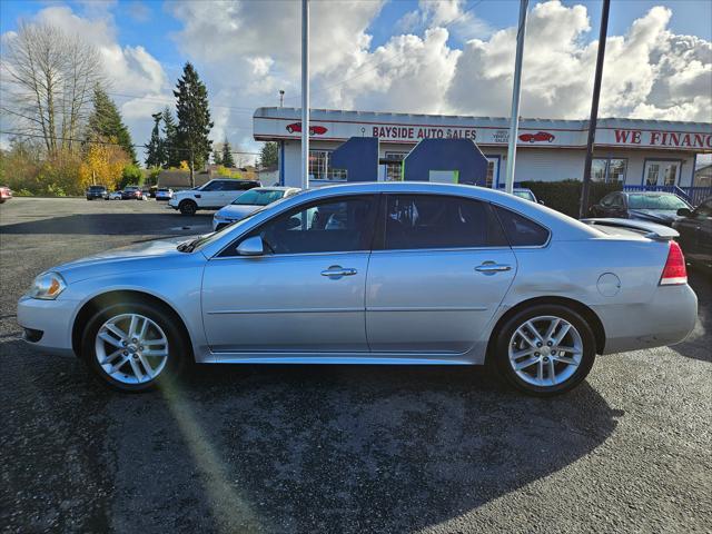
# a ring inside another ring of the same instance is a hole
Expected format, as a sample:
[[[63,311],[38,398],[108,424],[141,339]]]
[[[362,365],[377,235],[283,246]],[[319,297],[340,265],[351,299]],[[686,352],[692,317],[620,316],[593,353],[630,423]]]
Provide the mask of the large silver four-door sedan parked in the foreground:
[[[18,306],[26,339],[101,382],[149,388],[184,364],[491,360],[531,394],[596,354],[678,343],[696,297],[676,233],[586,225],[491,189],[326,187],[189,241],[52,268]]]

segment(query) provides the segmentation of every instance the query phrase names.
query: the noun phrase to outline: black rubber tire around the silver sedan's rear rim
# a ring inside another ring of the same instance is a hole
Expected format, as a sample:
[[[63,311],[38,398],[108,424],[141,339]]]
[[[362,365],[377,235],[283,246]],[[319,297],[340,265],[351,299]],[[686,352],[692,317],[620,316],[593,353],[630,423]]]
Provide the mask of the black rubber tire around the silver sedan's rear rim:
[[[510,363],[510,343],[516,329],[527,320],[542,316],[554,316],[570,323],[575,330],[577,330],[583,345],[581,363],[575,372],[563,382],[551,386],[538,386],[524,380],[517,375]],[[550,397],[568,392],[584,380],[595,360],[596,343],[591,326],[578,313],[562,305],[541,304],[522,309],[510,317],[495,335],[494,349],[490,357],[494,359],[493,363],[498,375],[508,384],[528,395]]]

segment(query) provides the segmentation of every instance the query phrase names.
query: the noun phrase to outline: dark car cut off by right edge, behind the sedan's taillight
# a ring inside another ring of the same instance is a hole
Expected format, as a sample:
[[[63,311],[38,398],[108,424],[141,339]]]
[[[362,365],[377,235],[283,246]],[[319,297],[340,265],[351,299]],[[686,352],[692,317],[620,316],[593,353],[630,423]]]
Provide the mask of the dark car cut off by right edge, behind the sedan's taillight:
[[[689,263],[712,268],[712,197],[690,210],[680,208],[672,226]]]

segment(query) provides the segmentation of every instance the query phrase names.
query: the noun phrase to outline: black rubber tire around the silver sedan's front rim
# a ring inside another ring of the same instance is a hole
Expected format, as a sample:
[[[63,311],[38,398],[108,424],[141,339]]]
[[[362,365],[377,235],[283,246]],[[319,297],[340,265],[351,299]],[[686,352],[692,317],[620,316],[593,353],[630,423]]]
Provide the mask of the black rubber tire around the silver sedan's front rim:
[[[140,314],[155,322],[164,330],[168,339],[168,358],[160,374],[150,382],[127,384],[108,375],[97,359],[95,340],[101,326],[111,317],[121,314]],[[176,326],[176,317],[162,306],[141,301],[125,301],[107,306],[87,323],[81,337],[81,358],[91,374],[103,386],[125,393],[142,393],[175,380],[191,360],[190,342],[185,333]]]

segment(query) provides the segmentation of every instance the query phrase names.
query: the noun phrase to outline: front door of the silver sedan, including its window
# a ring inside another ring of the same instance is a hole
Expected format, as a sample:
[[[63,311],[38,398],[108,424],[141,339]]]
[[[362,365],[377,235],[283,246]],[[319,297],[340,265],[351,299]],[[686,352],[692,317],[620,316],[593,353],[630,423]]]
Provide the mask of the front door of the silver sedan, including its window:
[[[214,352],[367,352],[364,291],[376,198],[338,196],[305,202],[212,258],[202,314]]]

